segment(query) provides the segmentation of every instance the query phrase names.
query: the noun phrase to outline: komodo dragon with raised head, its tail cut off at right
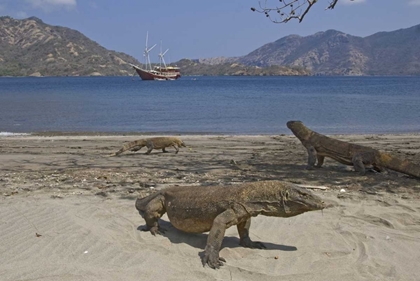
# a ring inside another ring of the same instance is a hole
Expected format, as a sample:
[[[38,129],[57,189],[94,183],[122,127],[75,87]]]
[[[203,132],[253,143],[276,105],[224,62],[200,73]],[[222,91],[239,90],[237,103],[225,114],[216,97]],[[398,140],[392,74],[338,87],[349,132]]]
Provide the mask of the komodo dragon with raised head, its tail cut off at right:
[[[307,169],[321,167],[324,158],[330,157],[342,164],[353,165],[356,172],[361,175],[365,174],[366,167],[372,167],[378,172],[387,168],[420,178],[420,165],[407,160],[400,160],[388,153],[367,146],[329,138],[308,129],[301,121],[289,121],[287,127],[292,130],[308,151]]]

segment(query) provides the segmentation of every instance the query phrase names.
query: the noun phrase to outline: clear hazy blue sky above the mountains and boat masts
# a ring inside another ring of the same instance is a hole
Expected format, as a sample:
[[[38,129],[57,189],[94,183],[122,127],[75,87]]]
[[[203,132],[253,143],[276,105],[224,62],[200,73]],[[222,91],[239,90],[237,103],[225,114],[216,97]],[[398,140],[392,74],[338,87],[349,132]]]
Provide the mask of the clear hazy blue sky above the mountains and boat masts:
[[[288,0],[284,0],[288,1]],[[289,0],[290,1],[290,0]],[[284,36],[307,36],[335,29],[368,36],[420,24],[420,0],[318,0],[305,19],[275,24],[251,11],[278,0],[0,0],[0,16],[36,16],[47,24],[80,31],[107,49],[144,62],[146,34],[158,61],[160,44],[166,62],[182,58],[246,55]]]

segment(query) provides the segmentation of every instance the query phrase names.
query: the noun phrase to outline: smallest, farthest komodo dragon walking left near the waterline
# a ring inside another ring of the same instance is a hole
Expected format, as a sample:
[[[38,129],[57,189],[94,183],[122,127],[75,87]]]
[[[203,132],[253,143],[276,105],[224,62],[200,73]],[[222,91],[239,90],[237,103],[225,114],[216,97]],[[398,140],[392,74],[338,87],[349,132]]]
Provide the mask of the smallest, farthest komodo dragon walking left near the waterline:
[[[138,151],[144,146],[147,146],[146,154],[150,154],[150,152],[152,152],[153,149],[162,149],[163,152],[167,152],[165,148],[170,146],[175,148],[175,154],[177,154],[179,148],[185,147],[185,144],[182,140],[180,140],[177,137],[155,137],[148,139],[140,139],[124,144],[120,150],[111,154],[110,156],[118,156],[127,150]]]

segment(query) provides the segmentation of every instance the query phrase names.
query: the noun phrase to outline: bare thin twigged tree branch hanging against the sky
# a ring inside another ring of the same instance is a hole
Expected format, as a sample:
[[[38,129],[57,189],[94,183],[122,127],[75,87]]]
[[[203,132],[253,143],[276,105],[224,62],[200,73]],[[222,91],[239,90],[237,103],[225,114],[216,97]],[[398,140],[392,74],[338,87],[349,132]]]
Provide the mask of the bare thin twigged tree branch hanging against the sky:
[[[303,18],[318,0],[279,0],[280,5],[278,7],[269,7],[267,2],[269,1],[264,0],[264,3],[259,1],[259,8],[252,7],[251,10],[264,14],[274,23],[286,23],[292,19],[302,22]],[[337,2],[338,0],[330,0],[326,9],[334,9]]]

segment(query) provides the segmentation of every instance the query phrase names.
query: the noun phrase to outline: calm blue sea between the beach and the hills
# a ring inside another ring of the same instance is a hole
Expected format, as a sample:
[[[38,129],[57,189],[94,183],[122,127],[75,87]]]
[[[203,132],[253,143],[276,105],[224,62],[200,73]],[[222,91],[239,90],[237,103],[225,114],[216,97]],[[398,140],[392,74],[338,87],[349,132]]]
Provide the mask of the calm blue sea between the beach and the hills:
[[[420,132],[420,77],[0,78],[0,132]]]

